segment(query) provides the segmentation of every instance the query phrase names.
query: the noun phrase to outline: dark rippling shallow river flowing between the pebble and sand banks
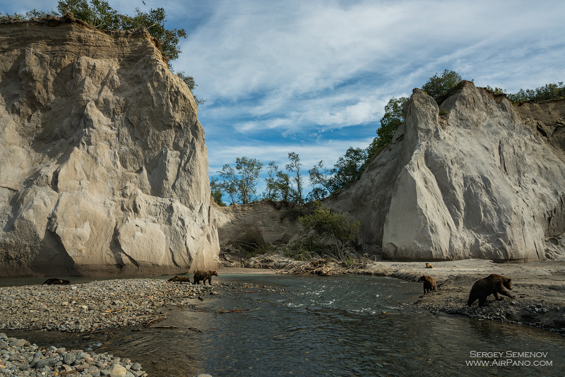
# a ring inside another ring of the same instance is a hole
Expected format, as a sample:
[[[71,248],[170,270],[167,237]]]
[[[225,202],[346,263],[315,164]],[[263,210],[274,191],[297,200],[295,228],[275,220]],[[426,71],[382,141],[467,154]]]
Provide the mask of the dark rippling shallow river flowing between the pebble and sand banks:
[[[109,330],[86,340],[77,334],[6,333],[37,345],[130,357],[150,376],[565,373],[563,335],[415,310],[405,303],[417,300],[420,284],[350,275],[234,274],[213,281],[220,283],[219,294],[195,300],[203,311],[169,308],[167,320],[158,323],[177,328]]]

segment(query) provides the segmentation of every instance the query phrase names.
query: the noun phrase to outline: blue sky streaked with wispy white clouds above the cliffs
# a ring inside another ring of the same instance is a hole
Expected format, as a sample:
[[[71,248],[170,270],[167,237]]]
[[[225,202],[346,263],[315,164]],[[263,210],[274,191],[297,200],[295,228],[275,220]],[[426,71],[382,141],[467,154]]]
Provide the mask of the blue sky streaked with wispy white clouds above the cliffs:
[[[376,136],[391,97],[444,69],[508,92],[565,81],[565,1],[109,1],[121,13],[163,7],[184,28],[172,66],[206,99],[210,175],[236,157],[307,172]],[[0,0],[0,12],[57,1]],[[262,191],[260,185],[259,191]],[[308,190],[309,191],[309,190]]]

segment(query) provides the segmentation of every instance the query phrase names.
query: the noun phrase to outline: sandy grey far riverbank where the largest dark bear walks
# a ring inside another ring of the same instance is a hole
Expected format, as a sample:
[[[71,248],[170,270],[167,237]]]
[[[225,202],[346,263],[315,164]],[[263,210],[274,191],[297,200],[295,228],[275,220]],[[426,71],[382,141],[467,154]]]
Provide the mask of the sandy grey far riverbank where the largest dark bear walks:
[[[244,261],[238,268],[235,262],[225,263],[218,270],[223,273],[286,273],[294,270],[311,270],[311,261],[299,262],[280,255],[256,256]],[[434,262],[434,268],[425,268],[424,262],[393,262],[364,260],[363,265],[344,268],[340,263],[328,263],[326,274],[352,273],[372,276],[396,277],[415,282],[422,275],[434,277],[439,289],[422,294],[414,305],[416,311],[464,315],[479,320],[501,321],[556,330],[565,335],[565,261],[531,263],[494,263],[484,259]],[[491,295],[487,305],[478,302],[469,308],[467,300],[473,283],[495,273],[510,277],[514,298],[496,301]],[[323,277],[321,277],[323,278]],[[422,291],[423,293],[423,287]]]

